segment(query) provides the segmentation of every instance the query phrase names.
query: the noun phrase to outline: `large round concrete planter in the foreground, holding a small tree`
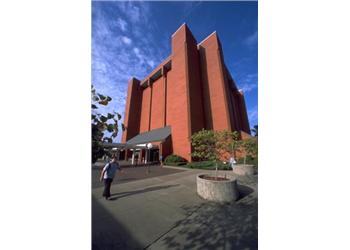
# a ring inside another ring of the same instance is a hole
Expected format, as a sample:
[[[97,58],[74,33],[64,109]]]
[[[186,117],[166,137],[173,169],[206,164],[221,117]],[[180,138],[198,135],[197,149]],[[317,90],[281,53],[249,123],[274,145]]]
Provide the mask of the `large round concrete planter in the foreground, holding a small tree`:
[[[200,197],[210,201],[233,202],[238,198],[237,180],[226,177],[225,181],[203,179],[207,174],[197,175],[197,193]]]

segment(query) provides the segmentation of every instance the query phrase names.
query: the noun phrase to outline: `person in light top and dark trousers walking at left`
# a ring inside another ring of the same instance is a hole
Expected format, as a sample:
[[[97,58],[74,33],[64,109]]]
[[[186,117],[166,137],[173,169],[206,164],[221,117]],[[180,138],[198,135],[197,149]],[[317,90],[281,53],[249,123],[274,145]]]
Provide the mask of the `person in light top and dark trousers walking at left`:
[[[117,170],[122,171],[119,163],[117,162],[117,155],[114,154],[112,156],[112,160],[102,169],[100,176],[100,181],[104,181],[105,186],[102,196],[105,197],[106,200],[109,200],[109,197],[111,196],[111,184]]]

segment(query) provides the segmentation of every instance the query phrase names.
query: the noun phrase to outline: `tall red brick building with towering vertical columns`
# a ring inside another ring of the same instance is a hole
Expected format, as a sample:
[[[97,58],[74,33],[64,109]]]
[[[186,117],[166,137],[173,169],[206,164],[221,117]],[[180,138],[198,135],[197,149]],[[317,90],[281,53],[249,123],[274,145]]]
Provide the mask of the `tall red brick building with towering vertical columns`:
[[[170,128],[161,141],[142,142],[152,142],[157,156],[173,153],[189,161],[190,137],[203,128],[250,134],[244,96],[225,65],[216,32],[197,43],[183,24],[172,35],[171,55],[145,79],[129,80],[124,125],[123,143]]]

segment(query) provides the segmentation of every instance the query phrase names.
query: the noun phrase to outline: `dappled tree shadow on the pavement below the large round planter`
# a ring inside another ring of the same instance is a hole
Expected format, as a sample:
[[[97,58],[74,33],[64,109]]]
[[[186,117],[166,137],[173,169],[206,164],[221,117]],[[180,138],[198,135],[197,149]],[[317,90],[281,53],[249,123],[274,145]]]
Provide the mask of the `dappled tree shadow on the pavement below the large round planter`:
[[[235,204],[183,206],[190,216],[149,249],[258,249],[258,200],[247,197],[252,188],[239,185],[239,190]]]

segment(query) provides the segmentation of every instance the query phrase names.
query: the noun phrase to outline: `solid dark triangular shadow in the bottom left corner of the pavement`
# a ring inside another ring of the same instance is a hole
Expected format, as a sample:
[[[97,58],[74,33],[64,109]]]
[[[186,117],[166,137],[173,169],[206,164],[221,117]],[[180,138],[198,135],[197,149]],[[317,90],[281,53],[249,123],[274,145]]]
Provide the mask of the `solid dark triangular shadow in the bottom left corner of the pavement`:
[[[92,250],[143,249],[143,246],[94,197],[91,226]]]

